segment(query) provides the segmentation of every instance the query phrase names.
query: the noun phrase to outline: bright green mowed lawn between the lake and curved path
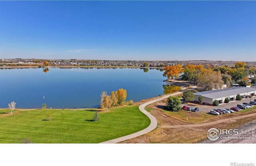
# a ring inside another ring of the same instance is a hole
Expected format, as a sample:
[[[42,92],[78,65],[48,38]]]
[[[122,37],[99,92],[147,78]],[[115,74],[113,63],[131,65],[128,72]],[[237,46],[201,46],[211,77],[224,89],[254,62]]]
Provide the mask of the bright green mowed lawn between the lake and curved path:
[[[138,106],[98,111],[100,120],[93,119],[97,109],[28,111],[0,109],[0,143],[100,143],[140,131],[150,124]],[[50,115],[51,120],[44,119]]]

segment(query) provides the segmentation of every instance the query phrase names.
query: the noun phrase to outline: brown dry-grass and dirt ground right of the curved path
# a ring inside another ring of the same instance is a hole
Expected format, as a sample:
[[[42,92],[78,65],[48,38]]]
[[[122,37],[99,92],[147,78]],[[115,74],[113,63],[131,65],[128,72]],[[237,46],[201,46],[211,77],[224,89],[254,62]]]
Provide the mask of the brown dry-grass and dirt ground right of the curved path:
[[[223,116],[182,110],[173,116],[169,111],[164,110],[166,102],[167,100],[165,99],[147,106],[147,110],[158,121],[156,129],[145,135],[120,143],[200,143],[208,140],[206,133],[210,128],[236,129],[246,123],[251,124],[256,120],[256,108],[249,112],[232,113]],[[226,141],[223,143],[233,142]]]

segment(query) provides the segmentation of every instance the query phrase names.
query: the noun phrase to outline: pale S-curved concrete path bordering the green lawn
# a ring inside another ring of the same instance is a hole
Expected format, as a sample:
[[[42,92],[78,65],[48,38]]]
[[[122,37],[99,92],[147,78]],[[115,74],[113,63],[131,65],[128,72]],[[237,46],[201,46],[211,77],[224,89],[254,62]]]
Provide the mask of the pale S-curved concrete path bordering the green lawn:
[[[181,94],[182,92],[176,92],[176,93],[173,93],[173,94],[169,94],[169,95],[166,95],[162,98],[158,98],[158,99],[155,99],[155,100],[152,100],[150,102],[147,102],[147,103],[144,103],[142,105],[140,105],[139,109],[140,111],[142,111],[145,115],[147,115],[147,117],[150,119],[150,125],[146,128],[146,129],[143,129],[141,131],[138,131],[136,133],[133,133],[133,134],[130,134],[130,135],[126,135],[126,136],[123,136],[123,137],[119,137],[119,138],[116,138],[116,139],[112,139],[112,140],[109,140],[109,141],[105,141],[105,142],[102,142],[102,143],[119,143],[121,141],[125,141],[125,140],[128,140],[128,139],[132,139],[132,138],[135,138],[135,137],[138,137],[140,135],[144,135],[152,130],[154,130],[157,126],[157,120],[156,118],[151,115],[149,112],[147,112],[145,110],[145,107],[149,104],[152,104],[154,102],[158,102],[160,100],[163,100],[165,98],[168,98],[169,96],[174,96],[174,95],[177,95],[177,94]]]

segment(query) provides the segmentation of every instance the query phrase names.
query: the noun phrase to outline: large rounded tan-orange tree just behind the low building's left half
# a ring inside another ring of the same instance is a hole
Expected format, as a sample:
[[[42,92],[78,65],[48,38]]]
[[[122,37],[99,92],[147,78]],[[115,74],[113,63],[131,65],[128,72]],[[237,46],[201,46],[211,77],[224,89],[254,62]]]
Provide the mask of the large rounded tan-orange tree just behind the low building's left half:
[[[203,87],[204,90],[219,89],[223,86],[222,75],[220,71],[213,71],[212,69],[204,69],[197,78],[198,86]]]

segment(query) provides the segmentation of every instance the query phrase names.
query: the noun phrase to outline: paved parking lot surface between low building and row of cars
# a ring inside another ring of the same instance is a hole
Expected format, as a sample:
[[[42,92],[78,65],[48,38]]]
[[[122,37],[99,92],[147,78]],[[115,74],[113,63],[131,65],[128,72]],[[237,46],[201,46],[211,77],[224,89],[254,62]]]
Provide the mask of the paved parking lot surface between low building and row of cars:
[[[184,105],[188,106],[188,107],[198,107],[199,108],[199,113],[208,113],[210,110],[213,109],[225,109],[225,108],[231,108],[231,107],[236,107],[237,104],[242,104],[242,103],[249,103],[250,101],[254,101],[254,99],[256,99],[256,97],[252,97],[252,98],[245,98],[242,100],[236,100],[236,101],[230,101],[229,103],[222,103],[219,104],[218,106],[211,106],[211,105],[200,105],[200,104],[195,104],[195,103],[185,103],[182,104],[182,107]],[[256,105],[252,105],[252,107],[254,107]]]

